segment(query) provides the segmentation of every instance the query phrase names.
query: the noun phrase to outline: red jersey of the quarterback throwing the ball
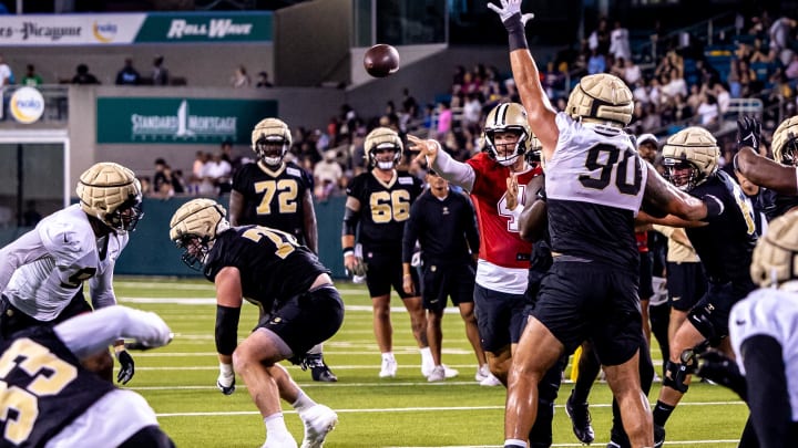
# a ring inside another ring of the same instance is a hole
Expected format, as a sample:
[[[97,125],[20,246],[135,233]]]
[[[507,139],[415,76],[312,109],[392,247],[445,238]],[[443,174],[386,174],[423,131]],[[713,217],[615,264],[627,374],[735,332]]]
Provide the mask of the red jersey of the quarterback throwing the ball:
[[[479,257],[503,268],[529,269],[532,243],[521,239],[519,223],[507,207],[510,169],[491,159],[487,153],[475,155],[467,164],[477,174],[471,200],[480,229]],[[540,166],[518,174],[519,207],[523,207],[525,201],[526,184],[541,174]]]

